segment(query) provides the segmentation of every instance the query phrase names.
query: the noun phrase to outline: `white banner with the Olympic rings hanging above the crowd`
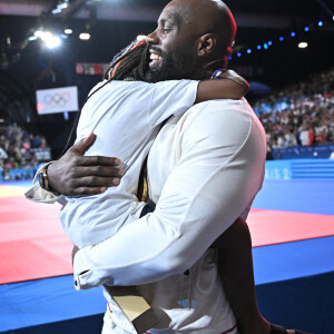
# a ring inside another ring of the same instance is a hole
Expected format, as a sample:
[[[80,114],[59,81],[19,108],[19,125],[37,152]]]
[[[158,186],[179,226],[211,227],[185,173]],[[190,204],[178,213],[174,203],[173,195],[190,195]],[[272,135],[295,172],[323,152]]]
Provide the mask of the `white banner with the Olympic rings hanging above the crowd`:
[[[36,91],[37,112],[39,115],[78,111],[78,87],[60,87]]]

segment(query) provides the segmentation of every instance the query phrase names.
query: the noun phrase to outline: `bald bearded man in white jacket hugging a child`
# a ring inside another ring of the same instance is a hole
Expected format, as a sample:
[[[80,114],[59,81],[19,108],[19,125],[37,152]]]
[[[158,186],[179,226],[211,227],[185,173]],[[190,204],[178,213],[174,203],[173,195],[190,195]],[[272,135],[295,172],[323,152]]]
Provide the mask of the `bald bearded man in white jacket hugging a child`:
[[[153,56],[146,79],[207,78],[226,67],[235,31],[220,1],[171,1],[147,37]],[[52,189],[89,195],[119,183],[115,159],[82,157],[86,148],[49,166]],[[80,249],[78,285],[138,285],[158,318],[151,334],[278,333],[257,312],[249,233],[237,219],[247,217],[262,187],[265,156],[263,127],[245,99],[203,102],[171,117],[147,160],[156,210]],[[218,249],[210,248],[219,235]],[[106,297],[104,333],[135,333],[108,291]]]

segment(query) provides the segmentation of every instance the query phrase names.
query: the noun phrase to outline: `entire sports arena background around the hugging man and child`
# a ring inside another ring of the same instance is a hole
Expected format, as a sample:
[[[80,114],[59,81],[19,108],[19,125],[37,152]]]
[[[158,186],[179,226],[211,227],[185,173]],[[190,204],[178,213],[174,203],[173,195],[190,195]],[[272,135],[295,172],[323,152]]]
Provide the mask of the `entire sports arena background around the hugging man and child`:
[[[100,333],[101,287],[77,292],[59,205],[27,200],[112,57],[168,0],[0,0],[0,333]],[[257,301],[288,328],[334,333],[334,2],[226,0],[228,67],[267,136],[247,223]],[[205,333],[204,333],[205,334]]]

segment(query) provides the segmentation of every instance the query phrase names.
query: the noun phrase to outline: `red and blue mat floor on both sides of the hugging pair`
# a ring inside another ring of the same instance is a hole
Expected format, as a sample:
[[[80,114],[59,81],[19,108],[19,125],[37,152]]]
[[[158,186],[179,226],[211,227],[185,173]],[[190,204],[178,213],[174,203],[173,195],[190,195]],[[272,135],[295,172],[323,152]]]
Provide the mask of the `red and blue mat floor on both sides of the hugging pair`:
[[[101,291],[73,289],[60,206],[28,202],[30,184],[0,185],[0,332],[59,333],[76,323],[80,333],[98,333]],[[333,333],[334,305],[326,296],[334,294],[326,283],[334,275],[333,194],[334,181],[266,180],[254,202],[247,222],[259,307],[269,321]]]

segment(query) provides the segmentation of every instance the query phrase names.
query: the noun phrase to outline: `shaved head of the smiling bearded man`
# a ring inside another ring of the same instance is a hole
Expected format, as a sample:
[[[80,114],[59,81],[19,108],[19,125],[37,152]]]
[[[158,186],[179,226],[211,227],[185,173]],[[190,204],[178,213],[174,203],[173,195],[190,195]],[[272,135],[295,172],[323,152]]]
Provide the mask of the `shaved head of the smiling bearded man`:
[[[219,0],[173,0],[146,39],[151,53],[147,80],[204,79],[226,68],[236,24]]]

